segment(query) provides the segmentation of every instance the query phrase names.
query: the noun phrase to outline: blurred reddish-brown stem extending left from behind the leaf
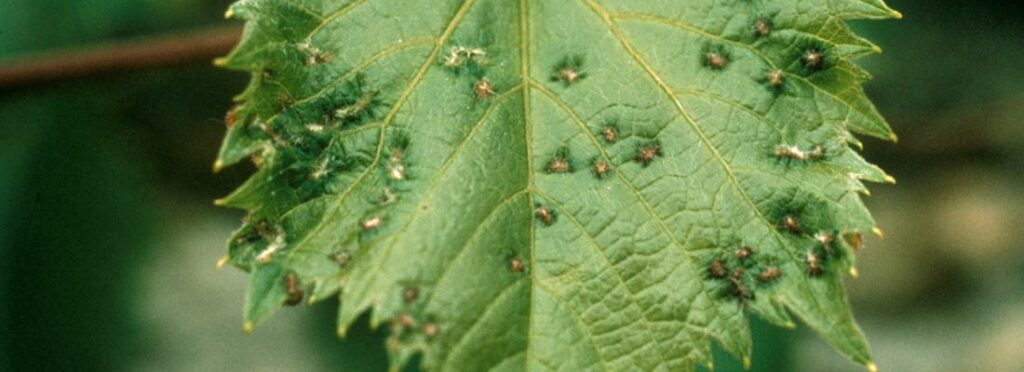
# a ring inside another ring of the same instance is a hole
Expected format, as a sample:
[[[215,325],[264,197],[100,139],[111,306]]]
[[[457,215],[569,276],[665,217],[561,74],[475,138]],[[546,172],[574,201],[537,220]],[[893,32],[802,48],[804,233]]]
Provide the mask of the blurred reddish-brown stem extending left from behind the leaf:
[[[211,60],[239,42],[242,29],[220,27],[0,61],[0,92],[109,74]]]

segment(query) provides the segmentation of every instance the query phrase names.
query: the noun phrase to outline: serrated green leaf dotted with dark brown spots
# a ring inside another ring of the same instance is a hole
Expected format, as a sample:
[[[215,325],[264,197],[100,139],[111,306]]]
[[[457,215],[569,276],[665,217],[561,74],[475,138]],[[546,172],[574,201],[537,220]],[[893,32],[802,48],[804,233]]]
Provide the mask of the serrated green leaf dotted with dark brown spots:
[[[691,370],[796,315],[873,367],[842,277],[895,139],[874,0],[243,0],[217,167],[253,326],[340,295],[395,367]],[[749,247],[748,249],[743,247]]]

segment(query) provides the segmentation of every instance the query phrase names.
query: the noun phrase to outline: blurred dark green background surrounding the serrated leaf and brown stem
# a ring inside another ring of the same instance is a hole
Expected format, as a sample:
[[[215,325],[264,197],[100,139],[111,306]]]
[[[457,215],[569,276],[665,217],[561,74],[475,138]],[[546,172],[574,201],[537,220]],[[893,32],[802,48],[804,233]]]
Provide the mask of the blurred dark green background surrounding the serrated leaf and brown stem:
[[[224,25],[227,0],[5,0],[0,58]],[[1024,6],[899,0],[854,27],[901,142],[867,203],[851,301],[884,371],[1024,371]],[[245,275],[218,271],[252,169],[213,174],[248,77],[191,66],[0,91],[0,370],[379,370],[381,332],[337,303],[244,335]],[[806,329],[754,323],[754,370],[859,371]],[[741,370],[718,355],[717,370]]]

